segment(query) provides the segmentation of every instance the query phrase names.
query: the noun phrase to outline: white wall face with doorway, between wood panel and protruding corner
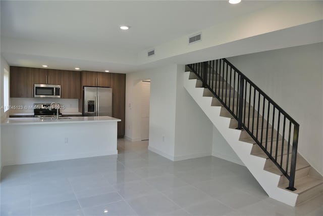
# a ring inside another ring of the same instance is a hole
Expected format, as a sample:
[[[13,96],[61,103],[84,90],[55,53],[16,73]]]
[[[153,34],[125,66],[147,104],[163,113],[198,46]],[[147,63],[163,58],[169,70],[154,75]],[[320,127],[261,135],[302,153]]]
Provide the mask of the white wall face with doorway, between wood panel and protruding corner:
[[[125,137],[141,140],[141,80],[150,79],[149,148],[173,159],[177,65],[126,76]]]

